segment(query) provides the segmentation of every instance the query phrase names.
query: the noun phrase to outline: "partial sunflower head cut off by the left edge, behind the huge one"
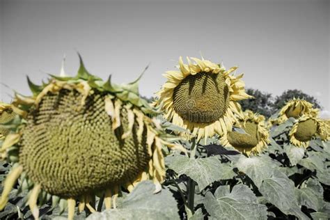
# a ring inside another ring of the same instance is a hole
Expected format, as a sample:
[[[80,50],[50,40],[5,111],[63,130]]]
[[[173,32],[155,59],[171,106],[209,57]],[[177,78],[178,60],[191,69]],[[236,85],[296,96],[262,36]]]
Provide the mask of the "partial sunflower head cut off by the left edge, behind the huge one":
[[[4,127],[4,125],[13,120],[15,116],[16,113],[10,107],[10,104],[0,102],[0,140],[4,139],[10,132],[10,129]]]

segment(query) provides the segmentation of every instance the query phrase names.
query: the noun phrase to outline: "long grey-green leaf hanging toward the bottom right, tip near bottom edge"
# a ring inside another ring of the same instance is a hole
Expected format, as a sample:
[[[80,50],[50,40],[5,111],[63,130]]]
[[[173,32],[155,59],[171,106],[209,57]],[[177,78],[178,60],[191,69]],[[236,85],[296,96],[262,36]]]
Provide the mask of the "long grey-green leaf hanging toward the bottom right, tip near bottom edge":
[[[293,214],[301,219],[308,219],[301,212],[296,196],[294,182],[280,171],[274,171],[270,178],[262,181],[259,191],[269,203],[278,207],[285,214]]]

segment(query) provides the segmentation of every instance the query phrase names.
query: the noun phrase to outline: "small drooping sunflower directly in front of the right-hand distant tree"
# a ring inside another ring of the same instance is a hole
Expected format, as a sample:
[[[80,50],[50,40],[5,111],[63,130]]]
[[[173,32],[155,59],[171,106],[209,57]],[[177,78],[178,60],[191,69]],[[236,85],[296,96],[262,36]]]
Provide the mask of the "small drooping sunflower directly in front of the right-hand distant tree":
[[[310,113],[314,116],[318,113],[317,109],[313,109],[313,104],[311,102],[294,98],[286,102],[285,106],[278,112],[278,117],[272,120],[272,123],[281,124],[289,118],[298,119],[300,116]]]

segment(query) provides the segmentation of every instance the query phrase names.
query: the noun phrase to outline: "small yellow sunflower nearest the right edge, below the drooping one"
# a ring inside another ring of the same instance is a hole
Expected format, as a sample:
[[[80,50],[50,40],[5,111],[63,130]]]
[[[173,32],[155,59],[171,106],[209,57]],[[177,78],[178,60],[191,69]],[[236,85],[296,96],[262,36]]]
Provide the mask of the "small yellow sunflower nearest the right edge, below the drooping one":
[[[329,139],[327,124],[315,115],[315,113],[304,114],[296,120],[289,133],[290,142],[294,146],[307,148],[309,141],[315,136],[320,136],[324,141]]]

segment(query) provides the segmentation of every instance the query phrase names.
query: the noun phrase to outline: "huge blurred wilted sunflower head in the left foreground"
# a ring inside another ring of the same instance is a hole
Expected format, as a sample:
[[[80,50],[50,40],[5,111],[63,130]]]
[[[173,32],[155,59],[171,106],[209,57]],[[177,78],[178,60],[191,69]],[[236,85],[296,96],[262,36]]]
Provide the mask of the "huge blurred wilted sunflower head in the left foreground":
[[[29,79],[28,79],[29,81]],[[97,195],[105,207],[116,207],[120,187],[131,191],[152,179],[156,191],[164,180],[163,145],[168,143],[155,113],[139,97],[137,80],[118,86],[87,72],[81,61],[77,77],[54,77],[36,86],[32,97],[16,95],[22,123],[3,142],[1,152],[13,163],[4,181],[0,209],[17,179],[29,190],[28,204],[38,219],[38,205],[68,203],[68,219],[79,211],[95,212]],[[181,147],[181,149],[183,149]]]

